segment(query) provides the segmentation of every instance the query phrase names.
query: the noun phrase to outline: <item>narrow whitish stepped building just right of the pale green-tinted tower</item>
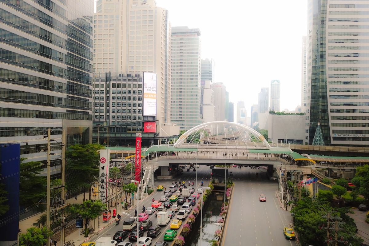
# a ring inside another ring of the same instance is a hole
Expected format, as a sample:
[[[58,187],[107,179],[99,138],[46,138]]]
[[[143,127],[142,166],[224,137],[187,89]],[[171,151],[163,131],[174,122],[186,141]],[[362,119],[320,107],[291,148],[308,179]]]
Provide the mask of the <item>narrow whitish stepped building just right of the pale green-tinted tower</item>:
[[[200,115],[204,122],[215,121],[214,91],[210,80],[201,80]]]

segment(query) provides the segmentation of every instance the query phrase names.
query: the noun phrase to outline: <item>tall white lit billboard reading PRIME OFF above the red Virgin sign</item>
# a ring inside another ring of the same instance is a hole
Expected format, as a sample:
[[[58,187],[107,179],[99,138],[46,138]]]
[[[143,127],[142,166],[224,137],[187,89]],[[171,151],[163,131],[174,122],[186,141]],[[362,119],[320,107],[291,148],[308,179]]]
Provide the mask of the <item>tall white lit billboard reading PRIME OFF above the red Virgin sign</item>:
[[[156,116],[156,73],[144,72],[144,116]]]

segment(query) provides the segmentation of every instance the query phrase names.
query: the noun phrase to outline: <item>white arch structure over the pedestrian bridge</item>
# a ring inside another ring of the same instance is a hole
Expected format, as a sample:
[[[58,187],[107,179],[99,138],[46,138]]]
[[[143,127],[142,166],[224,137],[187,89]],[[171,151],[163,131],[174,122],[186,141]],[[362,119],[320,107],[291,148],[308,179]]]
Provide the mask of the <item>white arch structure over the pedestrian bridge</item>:
[[[251,127],[227,121],[207,122],[193,127],[182,134],[174,143],[174,146],[176,148],[197,148],[204,145],[214,148],[236,147],[246,149],[249,147],[255,148],[255,146],[258,148],[258,143],[252,140],[250,134],[253,134],[263,143],[260,146],[261,148],[271,148],[264,136]],[[249,146],[248,142],[251,142],[252,146]]]

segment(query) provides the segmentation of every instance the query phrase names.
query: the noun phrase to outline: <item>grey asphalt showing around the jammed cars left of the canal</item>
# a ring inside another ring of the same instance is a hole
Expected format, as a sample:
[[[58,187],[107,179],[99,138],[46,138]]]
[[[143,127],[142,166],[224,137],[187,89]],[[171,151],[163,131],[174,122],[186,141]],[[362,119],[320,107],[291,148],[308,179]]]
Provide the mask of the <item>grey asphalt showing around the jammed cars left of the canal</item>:
[[[201,187],[200,186],[200,182],[201,180],[204,181],[204,185],[206,185],[208,182],[208,175],[210,175],[211,173],[211,169],[209,166],[206,166],[206,165],[200,165],[200,168],[197,168],[196,169],[197,171],[197,187]],[[174,181],[177,181],[179,182],[179,180],[184,180],[185,181],[185,184],[188,187],[188,181],[194,181],[195,182],[195,177],[196,177],[196,172],[194,172],[192,169],[190,169],[189,172],[186,171],[186,169],[184,169],[184,172],[182,175],[180,176],[177,176]],[[210,178],[210,177],[209,177]],[[162,185],[164,187],[169,188],[169,185],[172,184],[172,181],[173,180],[155,180],[155,187],[157,187],[158,185]],[[195,182],[196,183],[196,182]],[[194,186],[191,186],[191,187],[195,187],[196,184],[194,184]],[[195,189],[195,192],[196,192],[197,189]],[[142,206],[145,205],[145,207],[151,207],[151,203],[152,203],[152,198],[155,198],[156,201],[159,200],[159,198],[163,195],[163,191],[158,191],[156,192],[156,189],[155,189],[155,192],[153,195],[150,195],[149,198],[146,198],[146,200],[142,201],[139,203],[139,209],[137,209],[138,213],[142,212]],[[135,200],[135,204],[136,204],[136,200]],[[177,204],[176,202],[173,202],[173,204]],[[135,207],[136,205],[134,205],[134,208],[128,212],[128,214],[131,214],[132,216],[134,216],[134,210],[135,210]],[[101,231],[99,233],[99,235],[97,236],[94,236],[92,237],[89,242],[94,242],[97,238],[100,238],[102,236],[110,236],[113,238],[114,234],[117,232],[117,231],[122,231],[122,226],[123,226],[123,221],[125,219],[127,219],[128,216],[126,215],[122,215],[121,217],[121,223],[119,225],[111,225],[109,226],[108,228],[104,229],[103,231]],[[152,224],[153,225],[156,225],[156,216],[155,214],[153,215],[149,215],[149,220],[152,221]],[[157,238],[152,238],[153,241],[152,241],[152,245],[155,245],[156,242],[158,241],[163,241],[163,236],[164,236],[164,233],[166,230],[169,230],[170,229],[170,223],[171,223],[172,219],[170,220],[170,222],[168,223],[167,226],[162,226],[162,231],[160,233],[160,235],[158,235]],[[104,224],[104,223],[101,223],[100,224],[100,228],[101,227],[104,227],[106,226],[107,224]],[[146,231],[144,232],[144,236],[146,236]],[[136,241],[129,241],[128,238],[123,240],[123,242],[132,242],[132,245],[136,245]]]

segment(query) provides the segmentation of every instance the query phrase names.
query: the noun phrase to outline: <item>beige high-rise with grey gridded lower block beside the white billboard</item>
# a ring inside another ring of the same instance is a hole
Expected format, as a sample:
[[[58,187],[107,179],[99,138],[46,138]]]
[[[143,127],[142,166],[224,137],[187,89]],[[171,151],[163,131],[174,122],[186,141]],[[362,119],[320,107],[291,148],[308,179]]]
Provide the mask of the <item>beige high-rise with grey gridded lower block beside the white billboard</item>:
[[[134,90],[139,89],[137,82],[142,83],[142,72],[156,73],[155,119],[159,120],[159,126],[168,123],[171,56],[168,11],[156,6],[155,0],[142,3],[135,0],[103,3],[99,0],[96,2],[96,11],[93,44],[94,124],[116,125],[144,119],[142,107],[138,106],[142,105],[138,101],[142,96],[128,94],[142,92]],[[130,90],[128,86],[136,87]]]

